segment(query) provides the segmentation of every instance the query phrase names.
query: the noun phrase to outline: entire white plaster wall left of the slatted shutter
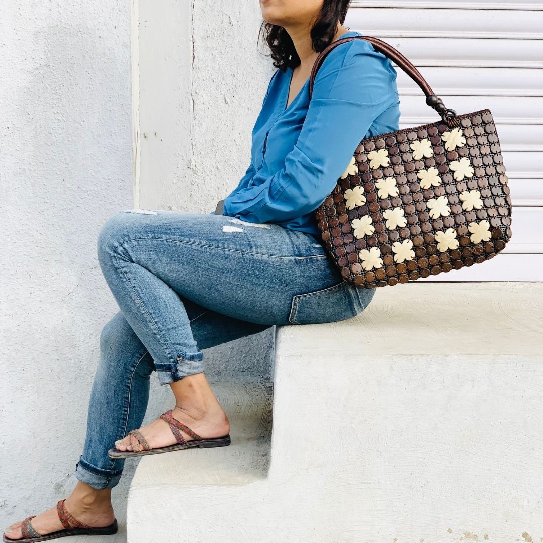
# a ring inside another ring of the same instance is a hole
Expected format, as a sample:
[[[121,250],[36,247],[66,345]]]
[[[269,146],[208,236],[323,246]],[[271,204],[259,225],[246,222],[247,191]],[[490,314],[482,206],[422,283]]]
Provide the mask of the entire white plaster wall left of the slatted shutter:
[[[77,482],[99,333],[118,311],[96,260],[102,224],[134,201],[207,213],[245,172],[273,71],[260,21],[249,0],[0,7],[2,527]],[[272,348],[269,329],[207,350],[209,375],[267,378]],[[151,387],[144,424],[168,393]]]

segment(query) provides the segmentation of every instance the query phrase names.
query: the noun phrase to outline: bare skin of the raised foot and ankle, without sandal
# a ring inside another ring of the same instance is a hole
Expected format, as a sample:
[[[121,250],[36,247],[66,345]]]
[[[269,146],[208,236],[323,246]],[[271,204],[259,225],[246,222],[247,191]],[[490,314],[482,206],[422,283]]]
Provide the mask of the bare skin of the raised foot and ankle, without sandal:
[[[176,405],[172,416],[188,426],[201,438],[220,438],[230,432],[230,422],[217,398],[213,395],[203,373],[188,375],[170,383],[175,394]],[[152,449],[160,449],[178,443],[171,427],[163,419],[155,419],[139,431]],[[186,441],[193,441],[190,435],[180,430]],[[132,451],[131,438],[116,441],[117,451]]]

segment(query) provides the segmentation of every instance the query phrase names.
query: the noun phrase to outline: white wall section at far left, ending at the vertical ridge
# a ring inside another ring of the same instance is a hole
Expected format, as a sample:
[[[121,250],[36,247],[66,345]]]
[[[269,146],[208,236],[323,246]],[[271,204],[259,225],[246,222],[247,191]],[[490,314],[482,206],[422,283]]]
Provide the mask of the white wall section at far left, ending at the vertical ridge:
[[[132,207],[130,5],[0,5],[0,525],[75,484],[98,361],[118,311],[100,226]]]

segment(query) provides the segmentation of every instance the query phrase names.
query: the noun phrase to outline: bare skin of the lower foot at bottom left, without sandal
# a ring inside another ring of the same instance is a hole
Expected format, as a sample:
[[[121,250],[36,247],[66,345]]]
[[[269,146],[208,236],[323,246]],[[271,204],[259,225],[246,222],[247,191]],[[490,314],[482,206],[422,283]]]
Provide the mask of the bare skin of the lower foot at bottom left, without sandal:
[[[82,481],[78,481],[72,494],[66,498],[65,507],[75,519],[93,528],[109,526],[115,520],[113,507],[111,506],[111,489],[97,490]],[[30,514],[30,513],[29,513]],[[64,529],[56,505],[47,511],[36,515],[30,520],[30,524],[41,535],[47,535]],[[15,522],[8,527],[4,535],[8,539],[21,539],[22,521]],[[11,529],[11,532],[9,531]],[[22,540],[24,541],[24,540]]]

